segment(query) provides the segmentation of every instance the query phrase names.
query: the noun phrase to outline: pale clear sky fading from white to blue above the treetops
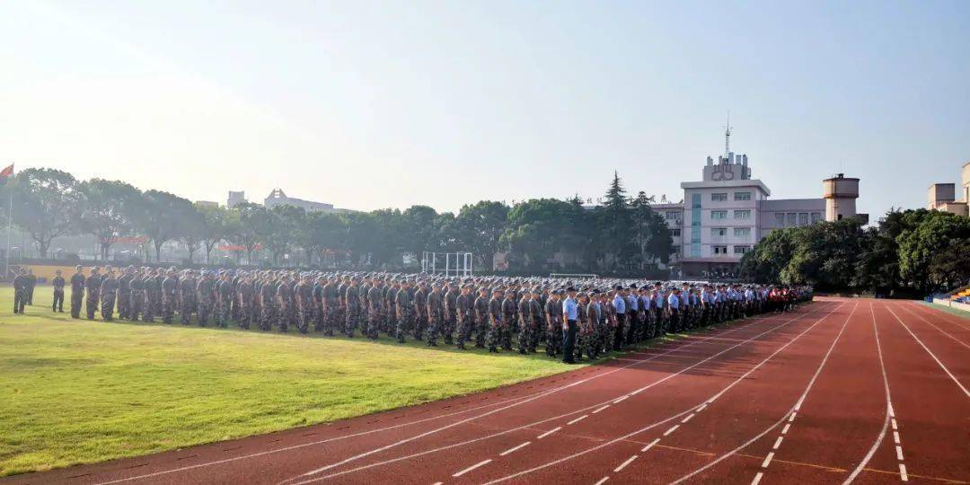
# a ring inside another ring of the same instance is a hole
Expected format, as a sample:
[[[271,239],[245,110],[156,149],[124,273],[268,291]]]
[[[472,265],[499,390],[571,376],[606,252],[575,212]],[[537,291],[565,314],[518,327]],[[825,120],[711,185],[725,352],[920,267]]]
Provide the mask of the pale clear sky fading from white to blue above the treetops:
[[[774,198],[925,204],[970,161],[970,2],[6,0],[0,162],[225,203],[680,200],[748,153]]]

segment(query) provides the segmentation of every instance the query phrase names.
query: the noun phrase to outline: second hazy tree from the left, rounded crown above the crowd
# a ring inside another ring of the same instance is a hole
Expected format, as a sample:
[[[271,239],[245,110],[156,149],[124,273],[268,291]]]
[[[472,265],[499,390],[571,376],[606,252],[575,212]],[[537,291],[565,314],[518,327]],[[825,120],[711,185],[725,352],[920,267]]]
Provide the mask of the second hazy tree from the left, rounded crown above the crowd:
[[[128,183],[103,178],[82,181],[78,191],[84,202],[77,220],[79,230],[98,240],[101,259],[107,261],[115,238],[133,229],[142,193]]]

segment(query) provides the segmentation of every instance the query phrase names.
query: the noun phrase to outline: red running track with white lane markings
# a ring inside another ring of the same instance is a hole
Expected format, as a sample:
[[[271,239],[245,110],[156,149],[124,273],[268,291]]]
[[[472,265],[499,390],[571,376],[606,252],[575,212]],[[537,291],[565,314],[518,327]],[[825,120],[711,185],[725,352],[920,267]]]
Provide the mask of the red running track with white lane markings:
[[[819,298],[606,365],[5,483],[970,483],[970,319]]]

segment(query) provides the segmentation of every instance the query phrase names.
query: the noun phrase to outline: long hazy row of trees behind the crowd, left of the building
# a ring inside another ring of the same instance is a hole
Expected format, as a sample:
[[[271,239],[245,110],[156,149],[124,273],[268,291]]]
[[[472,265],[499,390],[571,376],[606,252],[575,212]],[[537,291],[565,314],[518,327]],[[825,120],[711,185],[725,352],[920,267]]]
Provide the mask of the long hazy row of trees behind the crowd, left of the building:
[[[513,271],[600,273],[651,268],[673,250],[663,217],[650,208],[653,197],[628,197],[618,174],[595,206],[576,196],[512,206],[479,201],[457,213],[427,206],[341,213],[251,203],[227,209],[53,169],[24,170],[0,190],[3,200],[13,192],[13,222],[42,257],[54,238],[90,235],[107,260],[119,239],[138,236],[148,242],[146,258],[156,262],[164,244],[180,242],[190,263],[210,263],[213,250],[229,247],[240,263],[396,269],[405,254],[461,250],[474,254],[478,269],[491,270],[494,255],[506,253]]]

